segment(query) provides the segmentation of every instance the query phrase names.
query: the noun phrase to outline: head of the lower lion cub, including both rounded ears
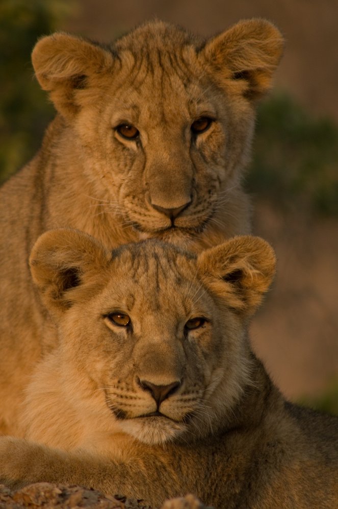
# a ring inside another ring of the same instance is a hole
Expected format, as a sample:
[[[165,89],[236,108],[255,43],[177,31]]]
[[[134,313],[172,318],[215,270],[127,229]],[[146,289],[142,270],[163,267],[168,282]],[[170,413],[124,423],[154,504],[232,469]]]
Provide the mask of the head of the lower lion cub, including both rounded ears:
[[[226,421],[250,383],[247,321],[275,270],[263,239],[198,256],[157,240],[111,252],[60,229],[38,239],[30,263],[59,327],[68,399],[96,398],[97,416],[149,444]]]

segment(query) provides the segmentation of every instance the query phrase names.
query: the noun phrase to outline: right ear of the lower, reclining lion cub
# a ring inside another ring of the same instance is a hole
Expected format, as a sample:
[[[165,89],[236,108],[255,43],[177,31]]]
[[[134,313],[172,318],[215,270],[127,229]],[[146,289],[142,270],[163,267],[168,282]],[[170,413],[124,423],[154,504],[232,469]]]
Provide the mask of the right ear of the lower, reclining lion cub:
[[[272,247],[260,237],[234,237],[224,244],[203,251],[197,267],[213,293],[247,316],[262,301],[275,274],[276,257]]]

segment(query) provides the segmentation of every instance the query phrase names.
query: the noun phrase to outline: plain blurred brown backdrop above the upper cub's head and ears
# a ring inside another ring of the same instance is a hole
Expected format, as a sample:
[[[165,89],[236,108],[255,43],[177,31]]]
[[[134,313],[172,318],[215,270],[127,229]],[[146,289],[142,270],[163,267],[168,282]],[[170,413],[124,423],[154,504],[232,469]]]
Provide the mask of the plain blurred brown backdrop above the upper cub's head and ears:
[[[61,28],[109,41],[158,17],[213,35],[239,19],[265,17],[287,39],[276,85],[301,103],[338,119],[338,3],[336,0],[82,0]]]

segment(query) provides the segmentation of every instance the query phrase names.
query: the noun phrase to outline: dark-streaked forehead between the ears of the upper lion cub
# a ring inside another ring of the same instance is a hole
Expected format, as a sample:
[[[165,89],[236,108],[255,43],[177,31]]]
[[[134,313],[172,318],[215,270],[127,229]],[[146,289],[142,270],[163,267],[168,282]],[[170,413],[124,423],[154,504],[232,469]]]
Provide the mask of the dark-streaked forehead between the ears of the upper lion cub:
[[[200,39],[162,22],[147,23],[117,40],[112,50],[119,56],[121,74],[114,114],[124,113],[136,123],[148,117],[153,122],[157,116],[163,122],[171,109],[173,119],[197,114],[204,98],[200,80],[205,69],[196,57],[201,44]]]

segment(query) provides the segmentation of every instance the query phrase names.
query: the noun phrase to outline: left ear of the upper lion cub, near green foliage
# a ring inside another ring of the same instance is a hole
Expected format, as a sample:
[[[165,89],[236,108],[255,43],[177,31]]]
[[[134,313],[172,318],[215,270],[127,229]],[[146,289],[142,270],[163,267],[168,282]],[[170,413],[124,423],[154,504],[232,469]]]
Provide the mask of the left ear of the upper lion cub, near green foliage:
[[[32,62],[41,87],[67,117],[79,109],[76,90],[86,88],[88,79],[111,68],[114,58],[101,46],[60,32],[36,43]]]

